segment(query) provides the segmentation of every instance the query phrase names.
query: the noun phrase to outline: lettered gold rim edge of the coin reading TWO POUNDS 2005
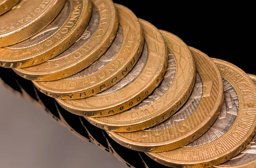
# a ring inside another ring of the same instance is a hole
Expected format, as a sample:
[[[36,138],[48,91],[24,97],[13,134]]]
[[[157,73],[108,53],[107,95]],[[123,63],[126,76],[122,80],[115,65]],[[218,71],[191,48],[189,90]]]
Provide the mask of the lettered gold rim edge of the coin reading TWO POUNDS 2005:
[[[41,90],[41,92],[43,92],[44,94],[47,94],[47,96],[49,96],[49,97],[56,98],[56,100],[59,104],[61,104],[60,103],[61,100],[74,100],[74,99],[81,99],[84,97],[89,97],[89,96],[97,94],[100,91],[103,91],[103,90],[111,87],[112,85],[117,83],[119,80],[121,80],[122,77],[124,77],[126,75],[126,74],[122,73],[122,71],[124,71],[126,68],[127,68],[127,71],[130,71],[133,68],[133,66],[136,64],[137,60],[140,57],[140,53],[143,48],[144,35],[143,35],[140,23],[137,20],[136,15],[130,9],[126,8],[125,6],[122,6],[122,5],[119,5],[116,3],[114,5],[115,5],[116,9],[120,8],[121,10],[124,10],[127,14],[129,14],[131,16],[131,20],[134,21],[134,26],[137,26],[137,29],[135,31],[135,33],[137,33],[137,41],[135,42],[136,47],[134,47],[130,53],[125,54],[125,56],[124,56],[124,57],[127,57],[128,59],[126,59],[126,61],[124,63],[122,63],[122,65],[119,66],[117,68],[117,70],[114,73],[111,73],[111,75],[109,75],[106,79],[97,81],[97,83],[95,83],[94,85],[87,86],[87,88],[79,87],[77,89],[68,90],[68,91],[58,91],[58,90],[53,90],[52,88],[47,88],[45,85],[39,85],[40,82],[35,83],[33,81],[34,85],[39,90]],[[123,17],[123,19],[125,19],[125,16],[122,16],[122,17]],[[120,19],[120,16],[119,16],[119,19]],[[130,35],[130,31],[128,32],[127,38],[129,35]],[[124,51],[122,51],[122,48],[124,48],[125,44],[126,44],[125,39],[123,39],[122,46],[121,46],[119,52],[116,54],[115,58],[110,63],[108,63],[108,65],[106,65],[99,71],[104,71],[105,69],[107,69],[111,65],[112,62],[114,62],[119,56],[121,56],[121,54],[122,55],[124,54]],[[134,64],[131,64],[131,61],[134,61]],[[99,71],[97,71],[97,73]],[[84,80],[84,78],[89,78],[90,76],[93,76],[93,75],[94,74],[91,74],[87,77],[79,78],[78,80],[79,81]],[[111,83],[111,80],[115,77],[117,78],[117,80],[114,83]],[[60,80],[56,80],[56,81],[60,81]],[[69,82],[69,81],[74,82],[74,80],[64,80],[64,82]],[[103,85],[103,84],[105,85],[105,88],[100,90],[100,85]],[[93,93],[92,93],[92,90],[94,91]],[[80,94],[83,94],[83,93],[86,93],[86,95],[81,96]],[[70,97],[70,94],[72,94],[72,97]],[[63,103],[63,104],[65,104],[65,103]],[[68,105],[64,106],[65,109],[67,109],[67,107],[68,107]]]

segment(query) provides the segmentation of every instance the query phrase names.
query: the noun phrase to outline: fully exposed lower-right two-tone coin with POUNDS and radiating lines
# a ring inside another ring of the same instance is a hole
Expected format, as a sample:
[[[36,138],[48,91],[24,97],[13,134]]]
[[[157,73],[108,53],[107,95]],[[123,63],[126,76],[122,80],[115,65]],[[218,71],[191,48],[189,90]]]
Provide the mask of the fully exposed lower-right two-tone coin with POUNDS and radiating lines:
[[[223,60],[213,61],[224,86],[224,103],[218,119],[206,133],[186,146],[146,153],[155,161],[175,168],[209,168],[235,157],[255,135],[256,89],[253,81],[237,66]]]

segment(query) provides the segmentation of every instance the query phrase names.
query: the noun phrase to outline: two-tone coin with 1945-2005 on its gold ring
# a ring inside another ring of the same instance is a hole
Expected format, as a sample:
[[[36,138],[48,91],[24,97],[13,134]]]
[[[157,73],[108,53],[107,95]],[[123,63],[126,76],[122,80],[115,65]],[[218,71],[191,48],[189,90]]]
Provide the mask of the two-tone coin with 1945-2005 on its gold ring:
[[[140,103],[163,79],[167,67],[167,48],[160,31],[140,19],[145,43],[134,68],[111,88],[79,100],[57,100],[68,111],[89,117],[120,113]],[[173,60],[173,58],[172,58]]]

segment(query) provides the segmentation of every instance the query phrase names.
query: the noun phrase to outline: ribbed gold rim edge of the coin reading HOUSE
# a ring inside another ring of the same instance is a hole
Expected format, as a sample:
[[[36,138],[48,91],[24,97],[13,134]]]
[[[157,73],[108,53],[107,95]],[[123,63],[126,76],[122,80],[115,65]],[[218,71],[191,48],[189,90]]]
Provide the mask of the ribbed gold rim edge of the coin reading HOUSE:
[[[108,3],[111,4],[113,3],[111,0],[102,0],[102,2],[100,0],[98,0],[99,2],[93,3],[93,5],[98,9],[99,11],[99,6],[102,3]],[[15,68],[14,71],[20,75],[21,77],[23,75],[26,75],[26,79],[28,80],[34,80],[34,81],[38,81],[38,82],[43,82],[43,81],[52,81],[52,80],[59,80],[61,78],[65,78],[65,77],[69,77],[73,74],[78,73],[79,71],[83,70],[84,68],[88,67],[90,64],[92,64],[93,62],[95,62],[100,56],[102,56],[102,54],[105,53],[105,51],[108,49],[108,47],[111,45],[111,43],[114,40],[114,37],[116,35],[117,29],[118,29],[118,14],[117,11],[115,9],[115,7],[113,5],[108,5],[109,6],[109,11],[111,11],[111,17],[109,18],[109,22],[107,26],[104,26],[106,31],[104,31],[104,35],[101,36],[101,42],[99,46],[95,47],[94,45],[94,41],[93,38],[96,37],[97,32],[99,32],[100,28],[102,29],[102,27],[100,27],[99,25],[102,22],[106,22],[105,20],[101,20],[99,19],[99,24],[96,28],[96,31],[93,33],[93,35],[90,37],[90,39],[83,44],[83,46],[81,46],[80,48],[76,49],[75,51],[73,51],[72,53],[64,56],[62,59],[64,60],[65,58],[70,58],[72,57],[74,54],[76,54],[77,52],[81,53],[81,58],[76,60],[76,62],[72,62],[68,65],[64,65],[64,66],[58,66],[58,68],[54,69],[54,71],[52,70],[48,70],[48,71],[27,71],[24,68]],[[99,18],[102,17],[102,13],[99,12]],[[74,43],[75,44],[75,43]],[[84,51],[81,48],[83,48],[84,46],[89,45],[89,46],[93,46],[91,50],[89,51]],[[69,48],[67,48],[68,50]],[[84,55],[87,55],[87,57],[84,57]],[[44,62],[44,63],[47,63]],[[44,63],[40,64],[40,66],[42,66]],[[54,63],[54,62],[52,62]],[[35,65],[38,66],[38,65]],[[46,65],[44,65],[46,66]],[[65,76],[64,76],[65,74]],[[38,78],[41,78],[40,80],[38,80]],[[36,83],[36,82],[35,82]]]

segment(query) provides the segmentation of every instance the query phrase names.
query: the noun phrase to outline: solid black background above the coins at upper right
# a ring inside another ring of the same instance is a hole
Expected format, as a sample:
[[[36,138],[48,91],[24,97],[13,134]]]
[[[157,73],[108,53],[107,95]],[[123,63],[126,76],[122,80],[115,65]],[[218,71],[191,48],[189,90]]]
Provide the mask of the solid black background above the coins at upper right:
[[[209,57],[226,60],[246,73],[256,74],[252,4],[217,1],[197,4],[171,0],[113,2],[128,7],[137,17],[157,28],[177,35],[188,46],[203,51]]]

